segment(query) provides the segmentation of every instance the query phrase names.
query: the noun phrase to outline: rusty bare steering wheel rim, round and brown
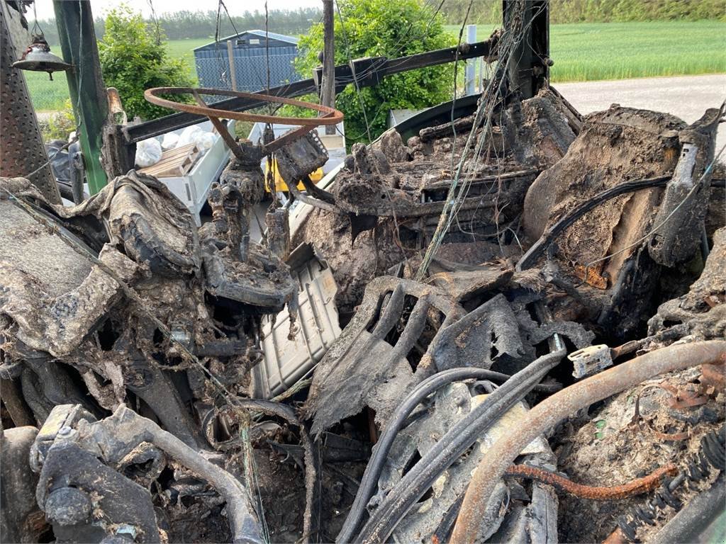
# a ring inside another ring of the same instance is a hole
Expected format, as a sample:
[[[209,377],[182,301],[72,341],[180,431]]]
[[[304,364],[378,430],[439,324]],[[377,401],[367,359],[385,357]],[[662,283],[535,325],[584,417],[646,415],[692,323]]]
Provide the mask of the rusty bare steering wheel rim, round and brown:
[[[275,104],[290,104],[291,106],[304,107],[309,110],[322,113],[316,118],[298,118],[298,117],[277,117],[276,115],[258,115],[255,113],[232,112],[230,110],[218,110],[197,104],[184,104],[182,102],[174,102],[158,96],[159,94],[191,94],[198,99],[200,94],[213,94],[216,96],[234,96],[261,102],[273,102]],[[171,110],[179,112],[187,112],[195,115],[205,115],[208,118],[234,119],[240,121],[252,121],[253,123],[277,123],[280,125],[297,125],[303,127],[314,128],[319,125],[337,125],[343,120],[343,112],[335,110],[335,108],[313,104],[312,102],[303,102],[282,96],[270,96],[269,94],[258,93],[242,93],[240,91],[227,91],[227,89],[219,88],[194,88],[194,87],[155,87],[148,88],[144,91],[144,98],[152,104],[161,107],[168,107]]]

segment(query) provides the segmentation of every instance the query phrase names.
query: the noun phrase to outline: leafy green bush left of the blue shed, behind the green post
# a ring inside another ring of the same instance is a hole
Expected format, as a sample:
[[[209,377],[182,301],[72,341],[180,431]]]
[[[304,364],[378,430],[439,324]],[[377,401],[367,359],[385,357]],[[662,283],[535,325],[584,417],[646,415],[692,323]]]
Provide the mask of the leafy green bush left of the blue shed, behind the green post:
[[[124,4],[106,15],[105,33],[98,44],[103,79],[118,89],[129,117],[148,120],[171,113],[144,99],[147,88],[194,85],[184,61],[168,57],[165,39]]]

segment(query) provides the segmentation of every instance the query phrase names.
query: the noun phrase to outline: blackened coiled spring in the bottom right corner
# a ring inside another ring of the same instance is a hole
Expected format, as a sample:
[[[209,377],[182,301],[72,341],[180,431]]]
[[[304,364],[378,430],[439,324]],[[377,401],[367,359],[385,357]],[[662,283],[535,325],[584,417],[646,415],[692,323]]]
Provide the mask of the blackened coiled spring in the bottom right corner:
[[[622,536],[629,542],[636,542],[636,532],[643,524],[655,525],[658,511],[671,506],[679,511],[683,504],[673,494],[684,482],[692,487],[711,475],[713,469],[722,471],[726,466],[726,426],[718,432],[712,431],[701,438],[701,448],[690,456],[685,463],[685,470],[680,471],[673,479],[664,479],[661,487],[643,506],[636,506],[618,520]],[[713,467],[713,468],[711,468]]]

